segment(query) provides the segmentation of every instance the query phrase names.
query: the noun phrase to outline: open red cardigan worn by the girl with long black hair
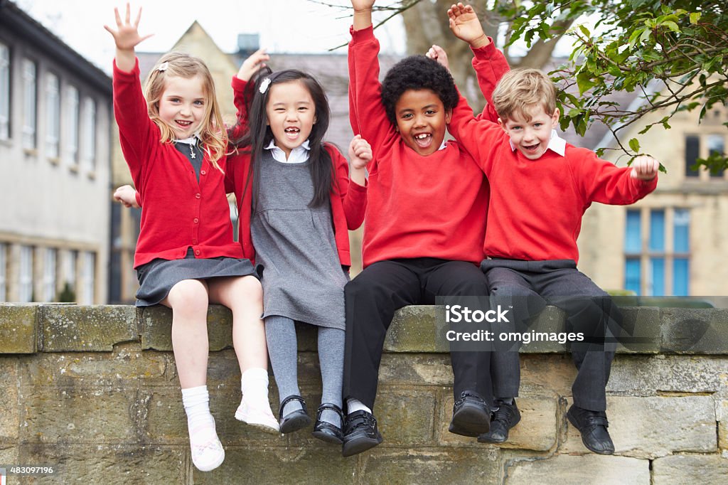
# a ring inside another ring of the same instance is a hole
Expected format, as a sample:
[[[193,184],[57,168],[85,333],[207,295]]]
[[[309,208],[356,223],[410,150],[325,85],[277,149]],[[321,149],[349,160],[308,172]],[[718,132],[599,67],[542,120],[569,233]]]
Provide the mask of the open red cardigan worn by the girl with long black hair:
[[[235,106],[237,117],[245,123],[245,101],[243,92],[245,81],[237,76],[232,78],[232,87],[235,93]],[[367,204],[367,189],[355,181],[349,181],[349,162],[335,146],[325,145],[335,170],[336,190],[331,191],[331,214],[333,218],[333,232],[336,248],[339,251],[339,260],[344,266],[351,266],[352,258],[349,253],[349,232],[347,229],[357,229],[364,220],[364,209]],[[246,258],[254,260],[255,249],[253,238],[250,236],[250,216],[253,200],[253,181],[248,182],[250,170],[250,155],[239,154],[228,158],[226,171],[226,188],[228,192],[235,192],[238,212],[238,240],[242,245],[242,252]],[[247,187],[247,190],[245,190]],[[243,192],[245,190],[245,192]]]

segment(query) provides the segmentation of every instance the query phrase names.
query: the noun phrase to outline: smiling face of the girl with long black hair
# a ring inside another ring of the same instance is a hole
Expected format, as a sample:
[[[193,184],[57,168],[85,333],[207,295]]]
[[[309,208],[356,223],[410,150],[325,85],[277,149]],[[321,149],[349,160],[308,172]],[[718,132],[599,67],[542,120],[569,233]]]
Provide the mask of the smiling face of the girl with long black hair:
[[[290,151],[308,140],[316,123],[316,106],[306,85],[299,81],[273,84],[266,104],[268,125],[278,148]]]

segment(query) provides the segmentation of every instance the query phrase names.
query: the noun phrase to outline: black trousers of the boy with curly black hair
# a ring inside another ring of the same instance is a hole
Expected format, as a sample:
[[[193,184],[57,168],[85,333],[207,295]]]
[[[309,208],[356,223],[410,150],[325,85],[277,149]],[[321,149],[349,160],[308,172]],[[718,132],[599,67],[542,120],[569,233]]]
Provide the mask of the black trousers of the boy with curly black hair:
[[[347,333],[344,401],[374,406],[384,337],[397,309],[434,304],[436,296],[486,296],[486,279],[472,263],[433,258],[378,261],[344,288]],[[464,390],[493,402],[488,352],[451,352],[454,395]]]

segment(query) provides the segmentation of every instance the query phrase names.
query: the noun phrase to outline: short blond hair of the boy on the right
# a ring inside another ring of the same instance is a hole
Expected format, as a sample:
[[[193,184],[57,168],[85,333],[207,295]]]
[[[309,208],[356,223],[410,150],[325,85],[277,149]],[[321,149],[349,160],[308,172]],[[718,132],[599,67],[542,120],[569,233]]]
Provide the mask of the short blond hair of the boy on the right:
[[[551,115],[556,109],[556,88],[538,69],[508,71],[493,91],[493,107],[504,122],[516,114],[531,121],[530,106],[542,106]]]

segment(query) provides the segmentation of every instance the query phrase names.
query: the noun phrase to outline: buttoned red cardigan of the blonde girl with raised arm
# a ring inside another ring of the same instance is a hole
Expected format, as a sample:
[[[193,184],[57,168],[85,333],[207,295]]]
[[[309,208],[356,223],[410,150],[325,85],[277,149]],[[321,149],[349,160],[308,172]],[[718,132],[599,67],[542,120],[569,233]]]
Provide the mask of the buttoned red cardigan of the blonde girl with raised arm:
[[[241,258],[233,240],[224,176],[202,160],[199,183],[189,160],[172,143],[159,143],[159,127],[149,119],[139,80],[114,62],[114,115],[119,141],[144,209],[134,267],[152,259],[183,259],[187,248],[198,258]],[[218,160],[224,170],[226,160]]]

